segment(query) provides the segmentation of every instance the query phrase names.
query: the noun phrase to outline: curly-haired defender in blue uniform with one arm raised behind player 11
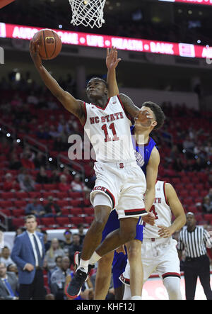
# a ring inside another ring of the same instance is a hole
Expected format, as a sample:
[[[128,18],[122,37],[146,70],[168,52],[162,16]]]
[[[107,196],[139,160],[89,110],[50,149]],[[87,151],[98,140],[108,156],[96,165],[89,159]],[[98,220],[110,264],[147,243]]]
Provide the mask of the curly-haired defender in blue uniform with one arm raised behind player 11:
[[[114,60],[113,60],[114,58]],[[107,50],[107,67],[108,71],[108,90],[109,96],[113,96],[118,93],[117,82],[111,78],[110,69],[112,68],[111,64],[115,64],[117,60],[117,51],[112,48],[109,52]],[[112,71],[114,71],[114,67]],[[158,165],[160,163],[160,155],[158,150],[155,147],[154,140],[149,136],[151,131],[161,128],[164,122],[164,113],[161,110],[160,106],[152,102],[143,103],[142,107],[145,110],[148,110],[153,116],[151,125],[148,127],[143,127],[141,123],[135,120],[135,124],[131,126],[132,142],[134,145],[134,152],[136,155],[137,164],[143,170],[146,175],[146,195],[145,195],[145,206],[149,210],[155,200],[155,181],[158,175]],[[139,223],[138,223],[139,225]],[[105,229],[102,232],[102,240],[112,232],[113,230],[119,228],[119,220],[117,213],[112,211],[110,217],[107,220]],[[141,242],[138,240],[133,240],[127,244],[128,248],[128,258],[131,264],[131,296],[133,299],[141,298],[142,282],[143,282],[143,273],[141,267]],[[122,299],[122,291],[119,291],[122,283],[119,281],[119,275],[122,274],[122,269],[126,265],[126,254],[117,254],[116,252],[110,252],[109,254],[102,257],[98,263],[98,272],[95,281],[95,299],[105,299],[107,295],[108,287],[110,284],[111,276],[111,266],[113,260],[113,279],[114,279],[114,288],[117,291],[117,299]]]

